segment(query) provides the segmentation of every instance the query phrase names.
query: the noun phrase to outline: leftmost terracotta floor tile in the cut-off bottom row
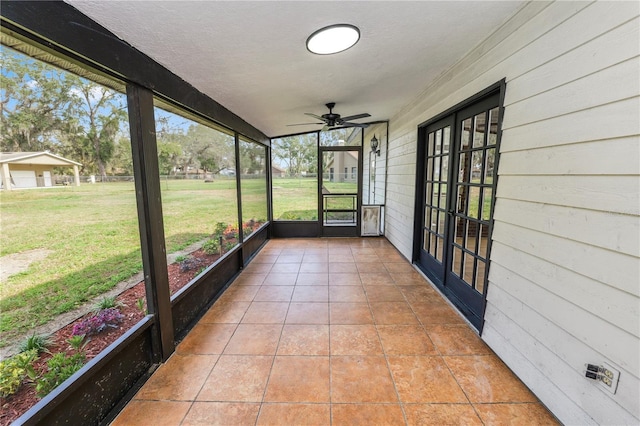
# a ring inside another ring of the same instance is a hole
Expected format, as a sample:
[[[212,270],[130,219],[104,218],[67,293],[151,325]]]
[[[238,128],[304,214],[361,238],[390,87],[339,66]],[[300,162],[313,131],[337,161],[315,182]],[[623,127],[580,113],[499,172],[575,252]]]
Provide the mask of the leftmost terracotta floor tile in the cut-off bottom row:
[[[178,426],[189,407],[191,402],[133,400],[111,424],[114,426]]]

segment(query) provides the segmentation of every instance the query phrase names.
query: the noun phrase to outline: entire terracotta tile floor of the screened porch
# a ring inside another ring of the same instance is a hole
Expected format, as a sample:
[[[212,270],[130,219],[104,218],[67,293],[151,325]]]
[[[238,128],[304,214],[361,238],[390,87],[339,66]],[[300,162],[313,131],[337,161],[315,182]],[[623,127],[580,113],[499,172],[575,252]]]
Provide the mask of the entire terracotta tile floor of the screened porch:
[[[114,425],[549,425],[383,238],[271,240]]]

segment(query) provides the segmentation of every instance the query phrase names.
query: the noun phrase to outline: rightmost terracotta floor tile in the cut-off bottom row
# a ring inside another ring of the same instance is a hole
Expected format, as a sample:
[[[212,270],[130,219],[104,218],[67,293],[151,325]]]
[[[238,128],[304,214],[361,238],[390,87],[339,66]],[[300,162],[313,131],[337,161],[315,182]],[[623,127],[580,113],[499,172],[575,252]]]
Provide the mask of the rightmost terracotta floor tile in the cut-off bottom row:
[[[550,426],[559,425],[542,404],[475,404],[485,425]]]

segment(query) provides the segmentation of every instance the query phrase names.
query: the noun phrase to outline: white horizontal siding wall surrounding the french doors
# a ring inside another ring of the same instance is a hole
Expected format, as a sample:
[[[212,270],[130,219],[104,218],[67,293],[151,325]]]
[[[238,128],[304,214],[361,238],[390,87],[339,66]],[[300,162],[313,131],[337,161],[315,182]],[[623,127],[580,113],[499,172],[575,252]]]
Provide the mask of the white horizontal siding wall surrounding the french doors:
[[[390,121],[386,235],[410,258],[418,124],[506,78],[482,338],[565,424],[640,422],[639,16],[529,3]]]

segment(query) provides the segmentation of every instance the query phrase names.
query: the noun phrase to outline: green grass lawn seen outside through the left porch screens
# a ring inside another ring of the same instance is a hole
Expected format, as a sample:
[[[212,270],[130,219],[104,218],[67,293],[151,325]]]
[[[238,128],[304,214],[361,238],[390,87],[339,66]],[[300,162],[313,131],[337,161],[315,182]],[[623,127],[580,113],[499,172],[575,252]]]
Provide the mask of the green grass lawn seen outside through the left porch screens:
[[[206,238],[218,222],[237,226],[233,179],[163,181],[161,189],[168,253]],[[0,346],[142,269],[133,182],[2,191],[0,226],[2,256],[51,251],[2,283]]]

